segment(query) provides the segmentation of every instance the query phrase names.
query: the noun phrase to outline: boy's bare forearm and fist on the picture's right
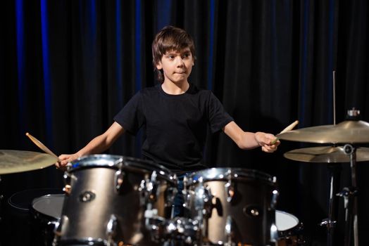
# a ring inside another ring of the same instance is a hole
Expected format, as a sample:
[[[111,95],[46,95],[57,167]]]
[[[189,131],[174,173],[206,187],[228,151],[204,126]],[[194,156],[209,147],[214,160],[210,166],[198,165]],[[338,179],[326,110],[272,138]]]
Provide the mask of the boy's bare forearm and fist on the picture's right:
[[[264,132],[249,132],[243,131],[235,122],[228,123],[223,131],[229,136],[234,143],[242,150],[250,150],[261,146],[261,149],[266,153],[273,153],[280,145],[280,141],[272,144],[275,140],[273,134],[265,134]]]

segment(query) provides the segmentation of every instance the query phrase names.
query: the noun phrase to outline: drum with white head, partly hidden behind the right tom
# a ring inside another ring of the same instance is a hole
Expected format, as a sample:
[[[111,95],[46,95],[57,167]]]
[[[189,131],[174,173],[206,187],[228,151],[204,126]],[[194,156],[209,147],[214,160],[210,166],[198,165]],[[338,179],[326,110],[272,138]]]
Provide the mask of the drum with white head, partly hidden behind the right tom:
[[[278,246],[304,245],[301,235],[303,225],[296,216],[283,211],[275,211],[275,225],[278,229]]]

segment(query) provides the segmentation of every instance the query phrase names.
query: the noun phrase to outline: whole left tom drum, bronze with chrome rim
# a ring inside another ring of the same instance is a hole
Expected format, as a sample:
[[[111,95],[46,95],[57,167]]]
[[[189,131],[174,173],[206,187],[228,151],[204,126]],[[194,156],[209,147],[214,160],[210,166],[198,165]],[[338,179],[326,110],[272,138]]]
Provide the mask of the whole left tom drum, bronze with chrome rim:
[[[145,212],[170,218],[176,179],[154,162],[87,155],[68,165],[60,245],[154,245]]]

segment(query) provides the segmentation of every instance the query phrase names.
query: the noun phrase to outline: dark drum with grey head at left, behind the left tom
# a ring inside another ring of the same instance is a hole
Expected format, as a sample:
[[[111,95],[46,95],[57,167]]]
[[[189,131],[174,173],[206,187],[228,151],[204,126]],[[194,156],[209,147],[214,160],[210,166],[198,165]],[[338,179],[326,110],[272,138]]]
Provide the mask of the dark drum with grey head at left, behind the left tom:
[[[30,213],[32,215],[33,245],[51,246],[54,240],[54,229],[61,217],[64,195],[52,194],[35,198]]]

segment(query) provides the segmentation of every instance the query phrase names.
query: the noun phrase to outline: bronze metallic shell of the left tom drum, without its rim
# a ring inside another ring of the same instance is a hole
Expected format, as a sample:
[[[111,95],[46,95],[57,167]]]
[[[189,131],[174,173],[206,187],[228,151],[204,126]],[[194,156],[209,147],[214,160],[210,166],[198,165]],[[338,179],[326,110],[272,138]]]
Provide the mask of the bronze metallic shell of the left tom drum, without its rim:
[[[150,164],[151,168],[144,169],[145,164]],[[151,179],[154,169],[160,173],[160,168],[151,162],[132,159],[127,166],[85,164],[68,171],[70,190],[65,196],[62,211],[61,243],[107,242],[108,222],[114,215],[118,221],[113,235],[115,242],[152,245],[144,224],[144,212],[149,201],[145,184]],[[116,188],[118,171],[123,173],[120,190]],[[167,175],[158,174],[156,185],[156,199],[151,201],[151,208],[156,209],[159,217],[169,218],[172,206],[167,193],[175,183]],[[86,195],[88,199],[85,201]]]

